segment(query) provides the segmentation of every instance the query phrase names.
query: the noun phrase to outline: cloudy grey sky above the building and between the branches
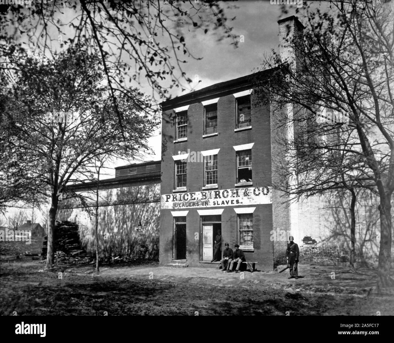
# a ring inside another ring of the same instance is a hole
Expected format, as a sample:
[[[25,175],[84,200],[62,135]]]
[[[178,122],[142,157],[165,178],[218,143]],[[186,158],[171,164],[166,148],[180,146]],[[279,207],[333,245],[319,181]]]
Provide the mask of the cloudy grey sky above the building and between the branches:
[[[46,1],[50,2],[50,0]],[[165,6],[171,8],[171,5],[168,4],[169,0],[160,1],[162,1],[161,7],[163,9],[165,9]],[[277,1],[279,2],[279,0]],[[301,5],[301,0],[297,1],[299,5]],[[190,2],[196,9],[204,11],[203,0],[190,0]],[[229,19],[227,24],[233,28],[232,32],[235,35],[240,36],[237,48],[231,44],[231,39],[218,41],[217,36],[210,32],[204,34],[201,29],[195,31],[190,28],[189,30],[188,26],[185,25],[182,28],[182,35],[185,38],[186,47],[189,49],[192,56],[201,59],[187,58],[187,55],[181,56],[182,59],[186,58],[187,61],[187,63],[182,64],[183,71],[186,72],[186,76],[193,80],[193,82],[190,85],[184,82],[184,86],[190,86],[190,89],[185,92],[181,92],[179,88],[174,88],[174,92],[171,96],[180,96],[190,92],[191,89],[198,90],[218,82],[235,79],[257,71],[264,60],[265,54],[270,54],[272,49],[278,48],[277,21],[284,16],[294,15],[297,8],[297,5],[282,5],[285,6],[288,13],[281,17],[281,5],[271,4],[271,2],[276,2],[276,0],[237,0],[219,2],[225,11],[225,15]],[[303,1],[304,6],[305,3],[306,2]],[[319,4],[320,2],[316,1],[316,3]],[[315,2],[313,4],[315,4]],[[34,2],[32,2],[32,5],[34,5]],[[190,7],[190,9],[188,7]],[[182,3],[182,8],[188,9],[192,14],[194,13],[193,11],[195,11],[187,2],[186,4]],[[74,30],[72,27],[69,27],[68,23],[79,21],[79,18],[76,16],[78,14],[79,13],[76,13],[73,9],[67,8],[67,6],[61,11],[58,10],[55,12],[55,19],[63,23],[63,26],[61,26],[61,34],[59,35],[58,27],[53,25],[48,26],[47,30],[52,39],[52,47],[58,52],[66,49],[68,46],[63,45],[61,41],[74,37]],[[174,20],[175,19],[176,17],[174,17]],[[173,26],[173,23],[167,21],[167,23],[168,22]],[[103,24],[112,26],[110,22],[105,22]],[[171,26],[167,26],[167,28],[171,30]],[[173,30],[176,29],[173,28]],[[155,37],[155,40],[160,42],[160,46],[167,46],[170,49],[171,45],[169,45],[168,36],[162,35],[160,32],[157,33],[158,36]],[[110,39],[110,36],[108,39]],[[20,36],[20,41],[26,42],[26,36]],[[113,42],[115,43],[115,39]],[[46,57],[49,57],[49,54],[47,54]],[[128,62],[131,66],[134,65],[134,62],[127,60],[127,58],[125,62]],[[139,90],[151,96],[151,86],[143,77],[141,77],[141,79],[141,84],[138,85]],[[136,84],[129,84],[129,86],[136,86]],[[107,175],[103,175],[102,178],[114,177],[115,171],[113,168],[117,166],[140,163],[142,161],[160,160],[160,126],[152,133],[152,137],[149,139],[149,146],[152,148],[153,154],[143,154],[138,160],[107,161]]]

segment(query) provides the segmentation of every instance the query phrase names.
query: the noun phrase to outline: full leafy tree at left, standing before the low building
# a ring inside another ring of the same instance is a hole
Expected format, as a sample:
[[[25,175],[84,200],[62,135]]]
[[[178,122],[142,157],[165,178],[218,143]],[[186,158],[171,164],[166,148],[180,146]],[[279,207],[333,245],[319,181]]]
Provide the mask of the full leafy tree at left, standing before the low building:
[[[117,97],[123,118],[123,127],[119,125],[110,90],[102,86],[100,59],[94,54],[70,49],[45,63],[30,58],[19,70],[18,86],[5,107],[7,125],[16,129],[8,131],[6,126],[5,140],[14,138],[13,151],[24,179],[45,185],[37,193],[51,203],[46,260],[46,268],[51,268],[56,213],[68,185],[91,180],[95,159],[133,159],[138,152],[149,151],[147,138],[157,122],[134,105],[148,100],[129,89],[134,103],[122,94]],[[12,172],[12,165],[8,168],[4,162],[5,172]]]

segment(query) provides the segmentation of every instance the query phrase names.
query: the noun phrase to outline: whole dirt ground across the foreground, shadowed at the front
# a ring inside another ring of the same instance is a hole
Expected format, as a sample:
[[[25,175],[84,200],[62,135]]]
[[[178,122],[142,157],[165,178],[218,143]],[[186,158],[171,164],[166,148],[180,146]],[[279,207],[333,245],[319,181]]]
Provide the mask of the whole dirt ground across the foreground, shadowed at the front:
[[[44,265],[1,260],[0,315],[394,315],[394,295],[374,294],[368,269],[300,264],[289,280],[288,270]]]

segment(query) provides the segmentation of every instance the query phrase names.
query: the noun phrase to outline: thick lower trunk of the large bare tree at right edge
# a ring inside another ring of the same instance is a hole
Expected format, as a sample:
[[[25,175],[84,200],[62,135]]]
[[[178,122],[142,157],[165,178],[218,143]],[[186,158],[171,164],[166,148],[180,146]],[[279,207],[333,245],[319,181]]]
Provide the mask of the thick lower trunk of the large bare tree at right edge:
[[[391,194],[380,197],[380,246],[377,289],[391,287],[393,284],[390,278],[391,264]]]

